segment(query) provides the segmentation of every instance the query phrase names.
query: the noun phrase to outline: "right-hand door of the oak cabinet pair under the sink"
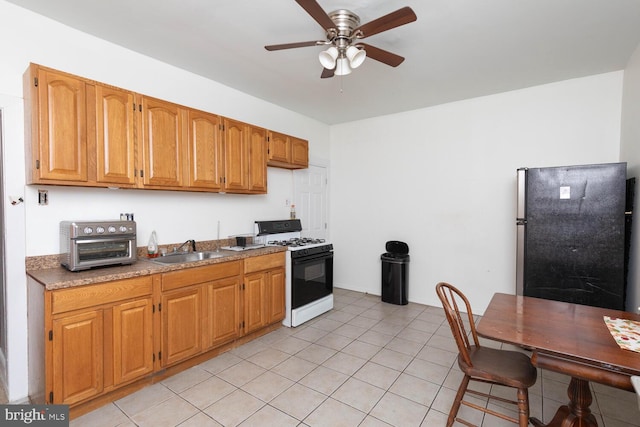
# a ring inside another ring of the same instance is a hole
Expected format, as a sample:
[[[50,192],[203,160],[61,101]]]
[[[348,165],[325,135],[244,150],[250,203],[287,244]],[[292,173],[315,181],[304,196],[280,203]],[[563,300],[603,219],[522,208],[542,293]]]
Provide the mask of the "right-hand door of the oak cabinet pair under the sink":
[[[208,347],[235,339],[240,331],[240,279],[233,277],[207,285]]]

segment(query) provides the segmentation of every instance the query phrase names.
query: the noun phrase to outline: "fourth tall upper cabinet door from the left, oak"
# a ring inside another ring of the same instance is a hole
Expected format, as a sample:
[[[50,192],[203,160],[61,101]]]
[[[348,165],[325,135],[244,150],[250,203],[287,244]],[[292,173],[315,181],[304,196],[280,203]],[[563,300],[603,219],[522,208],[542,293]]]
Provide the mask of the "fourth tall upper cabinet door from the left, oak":
[[[189,110],[189,186],[220,190],[224,178],[220,117]]]

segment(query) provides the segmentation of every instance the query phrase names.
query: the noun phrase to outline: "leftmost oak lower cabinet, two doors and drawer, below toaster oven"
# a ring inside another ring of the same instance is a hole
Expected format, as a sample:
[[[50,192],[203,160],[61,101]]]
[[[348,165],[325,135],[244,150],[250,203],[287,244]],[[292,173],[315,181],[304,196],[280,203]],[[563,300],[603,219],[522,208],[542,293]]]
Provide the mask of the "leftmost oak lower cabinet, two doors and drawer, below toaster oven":
[[[46,403],[73,405],[153,371],[152,276],[47,291],[44,306]]]

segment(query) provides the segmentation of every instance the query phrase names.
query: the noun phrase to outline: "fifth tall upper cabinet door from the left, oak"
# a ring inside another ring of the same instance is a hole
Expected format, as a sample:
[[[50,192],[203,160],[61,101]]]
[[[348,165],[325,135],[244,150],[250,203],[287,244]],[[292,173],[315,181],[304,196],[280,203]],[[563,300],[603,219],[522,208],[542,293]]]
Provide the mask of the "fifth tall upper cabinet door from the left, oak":
[[[246,123],[225,119],[224,157],[225,188],[247,190],[249,188],[249,146]]]

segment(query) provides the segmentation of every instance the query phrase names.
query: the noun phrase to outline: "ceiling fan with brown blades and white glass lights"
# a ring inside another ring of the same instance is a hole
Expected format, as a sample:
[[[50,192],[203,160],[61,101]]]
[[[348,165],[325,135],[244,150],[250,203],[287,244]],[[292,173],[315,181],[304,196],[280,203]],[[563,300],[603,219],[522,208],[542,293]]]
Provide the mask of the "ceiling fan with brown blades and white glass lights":
[[[359,67],[367,56],[392,67],[397,67],[404,61],[402,56],[361,43],[360,39],[418,19],[413,10],[407,6],[360,25],[360,17],[349,10],[339,9],[327,14],[316,0],[296,0],[296,3],[320,24],[326,32],[327,39],[275,44],[264,48],[273,51],[308,46],[329,46],[319,55],[320,64],[324,67],[320,75],[323,79],[351,73],[351,70]]]

